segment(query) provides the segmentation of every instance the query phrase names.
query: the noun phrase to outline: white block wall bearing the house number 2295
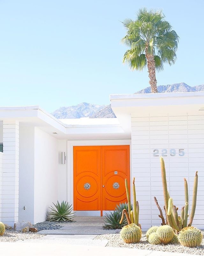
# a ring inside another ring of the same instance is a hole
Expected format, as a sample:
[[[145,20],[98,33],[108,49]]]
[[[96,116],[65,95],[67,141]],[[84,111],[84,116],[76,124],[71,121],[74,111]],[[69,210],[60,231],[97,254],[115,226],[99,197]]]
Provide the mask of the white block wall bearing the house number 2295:
[[[159,150],[158,156],[153,156],[154,149]],[[187,113],[182,116],[171,114],[132,116],[132,176],[136,178],[142,228],[161,224],[154,196],[163,209],[159,162],[162,149],[167,150],[167,156],[164,156],[167,183],[174,204],[179,207],[179,215],[185,203],[183,178],[188,181],[191,208],[194,175],[199,171],[197,207],[193,225],[204,228],[204,115]],[[176,150],[175,156],[170,155],[170,149]],[[179,149],[184,149],[184,156],[179,156]]]

